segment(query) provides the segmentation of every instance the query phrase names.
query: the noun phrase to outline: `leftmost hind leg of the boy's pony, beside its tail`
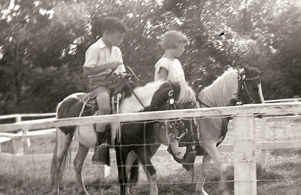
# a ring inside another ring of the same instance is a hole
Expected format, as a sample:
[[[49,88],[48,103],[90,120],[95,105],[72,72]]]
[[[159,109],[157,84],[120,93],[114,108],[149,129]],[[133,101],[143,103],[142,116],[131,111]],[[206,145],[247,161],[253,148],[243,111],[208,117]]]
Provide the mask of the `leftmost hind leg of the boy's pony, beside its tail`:
[[[51,164],[51,188],[53,194],[59,194],[60,181],[62,180],[64,167],[61,167],[63,160],[66,160],[67,150],[72,141],[73,135],[65,134],[59,128],[56,131],[56,145]],[[65,166],[65,163],[63,164]]]

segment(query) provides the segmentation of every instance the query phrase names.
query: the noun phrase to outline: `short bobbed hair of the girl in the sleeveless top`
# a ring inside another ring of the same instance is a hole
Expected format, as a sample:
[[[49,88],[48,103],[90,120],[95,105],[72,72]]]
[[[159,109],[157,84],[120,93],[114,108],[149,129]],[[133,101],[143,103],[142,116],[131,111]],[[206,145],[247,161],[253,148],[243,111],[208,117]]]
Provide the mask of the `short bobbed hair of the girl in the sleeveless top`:
[[[187,37],[180,31],[171,30],[168,31],[161,41],[161,47],[163,49],[179,48],[180,44],[187,43]]]

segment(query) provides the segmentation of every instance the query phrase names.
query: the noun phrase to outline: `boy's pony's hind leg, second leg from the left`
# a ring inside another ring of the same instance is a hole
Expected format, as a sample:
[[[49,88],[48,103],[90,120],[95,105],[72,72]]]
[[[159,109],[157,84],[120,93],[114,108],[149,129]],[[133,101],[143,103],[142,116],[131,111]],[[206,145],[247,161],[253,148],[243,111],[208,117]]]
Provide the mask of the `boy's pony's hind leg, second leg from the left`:
[[[75,170],[75,174],[76,174],[76,182],[77,182],[77,186],[78,186],[78,192],[77,192],[78,195],[79,194],[89,195],[89,193],[85,187],[82,174],[81,174],[82,169],[83,169],[83,163],[88,154],[88,151],[89,151],[89,147],[87,147],[79,142],[78,150],[77,150],[76,156],[73,161],[74,170]]]

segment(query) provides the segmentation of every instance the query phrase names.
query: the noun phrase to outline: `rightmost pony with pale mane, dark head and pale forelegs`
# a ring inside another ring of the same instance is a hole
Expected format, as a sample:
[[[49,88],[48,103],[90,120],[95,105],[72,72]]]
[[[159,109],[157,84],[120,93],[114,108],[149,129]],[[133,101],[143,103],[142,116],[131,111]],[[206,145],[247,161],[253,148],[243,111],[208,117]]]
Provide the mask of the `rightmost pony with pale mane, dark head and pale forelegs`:
[[[259,80],[259,70],[255,67],[243,65],[242,70],[228,68],[211,85],[201,91],[197,91],[197,99],[200,107],[232,106],[237,101],[242,103],[263,103],[261,83]],[[224,168],[217,146],[224,139],[229,117],[205,117],[197,118],[198,125],[198,144],[202,147],[199,155],[203,155],[201,172],[196,191],[201,195],[208,195],[204,190],[206,177],[205,166],[211,159],[218,164],[221,183],[219,186],[220,194],[229,194],[227,185],[223,178]]]

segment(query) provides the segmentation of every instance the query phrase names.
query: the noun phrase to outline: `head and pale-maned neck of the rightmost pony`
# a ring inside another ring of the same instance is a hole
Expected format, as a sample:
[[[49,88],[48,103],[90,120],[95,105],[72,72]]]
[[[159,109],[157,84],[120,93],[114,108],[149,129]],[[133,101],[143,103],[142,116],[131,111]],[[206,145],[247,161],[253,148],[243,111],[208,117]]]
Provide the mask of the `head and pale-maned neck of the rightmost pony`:
[[[242,103],[262,103],[264,101],[259,80],[260,71],[256,67],[243,65],[238,71],[229,67],[211,85],[198,93],[203,107],[217,107]]]

